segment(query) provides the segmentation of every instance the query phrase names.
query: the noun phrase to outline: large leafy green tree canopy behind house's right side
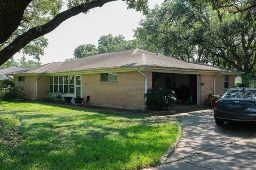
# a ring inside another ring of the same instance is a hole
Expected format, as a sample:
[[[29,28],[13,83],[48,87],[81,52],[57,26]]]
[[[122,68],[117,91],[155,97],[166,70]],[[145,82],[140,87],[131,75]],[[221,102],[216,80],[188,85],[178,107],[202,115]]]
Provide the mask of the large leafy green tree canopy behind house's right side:
[[[206,1],[173,0],[151,10],[135,37],[148,50],[249,73],[256,63],[255,31],[251,12],[229,12]]]

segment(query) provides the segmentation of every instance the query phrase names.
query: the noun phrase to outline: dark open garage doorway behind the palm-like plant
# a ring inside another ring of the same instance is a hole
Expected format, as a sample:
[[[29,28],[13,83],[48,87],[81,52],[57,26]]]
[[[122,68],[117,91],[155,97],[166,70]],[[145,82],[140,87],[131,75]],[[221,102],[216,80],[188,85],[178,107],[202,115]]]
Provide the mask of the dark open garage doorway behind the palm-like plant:
[[[153,87],[156,85],[174,90],[177,104],[197,104],[197,75],[153,72]]]

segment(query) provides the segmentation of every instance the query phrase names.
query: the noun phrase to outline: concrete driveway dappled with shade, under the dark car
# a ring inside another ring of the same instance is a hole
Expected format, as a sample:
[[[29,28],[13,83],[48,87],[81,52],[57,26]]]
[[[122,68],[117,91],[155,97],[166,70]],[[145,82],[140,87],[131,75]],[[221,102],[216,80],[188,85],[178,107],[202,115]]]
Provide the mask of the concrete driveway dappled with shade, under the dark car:
[[[256,125],[215,125],[212,110],[183,113],[183,132],[165,164],[149,169],[256,169]]]

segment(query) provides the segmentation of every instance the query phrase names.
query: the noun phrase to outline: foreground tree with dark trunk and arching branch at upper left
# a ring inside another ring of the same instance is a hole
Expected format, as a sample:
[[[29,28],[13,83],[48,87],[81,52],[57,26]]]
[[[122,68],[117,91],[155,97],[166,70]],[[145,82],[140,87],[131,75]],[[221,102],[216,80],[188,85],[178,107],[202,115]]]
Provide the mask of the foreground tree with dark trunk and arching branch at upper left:
[[[0,2],[0,65],[23,48],[23,53],[39,59],[47,40],[42,37],[57,28],[63,21],[94,7],[118,0],[68,0],[68,10],[59,12],[61,0],[26,0]],[[120,1],[120,0],[119,0]],[[147,0],[125,0],[128,8],[146,13]]]

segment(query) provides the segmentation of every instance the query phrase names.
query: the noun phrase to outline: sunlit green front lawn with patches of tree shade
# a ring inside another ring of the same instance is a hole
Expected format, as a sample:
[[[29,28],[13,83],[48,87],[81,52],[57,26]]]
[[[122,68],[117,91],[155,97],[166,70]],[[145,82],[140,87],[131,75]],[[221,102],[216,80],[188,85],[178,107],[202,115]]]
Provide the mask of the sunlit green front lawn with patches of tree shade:
[[[175,117],[0,102],[0,169],[139,169],[179,135]]]

